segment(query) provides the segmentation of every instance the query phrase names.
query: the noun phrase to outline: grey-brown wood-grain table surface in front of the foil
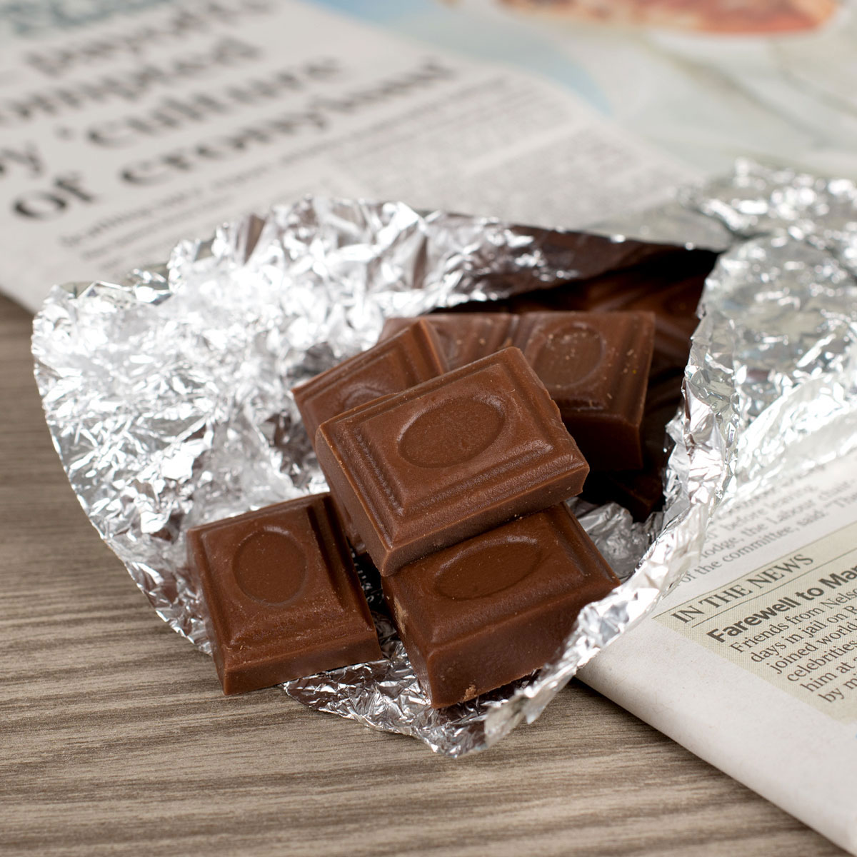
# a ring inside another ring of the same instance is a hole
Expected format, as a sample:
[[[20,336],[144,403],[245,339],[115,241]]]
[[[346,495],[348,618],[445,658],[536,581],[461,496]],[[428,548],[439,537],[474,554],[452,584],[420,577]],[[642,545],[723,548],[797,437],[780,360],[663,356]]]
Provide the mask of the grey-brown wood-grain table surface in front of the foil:
[[[0,854],[845,854],[575,682],[451,761],[224,698],[75,500],[0,298]]]

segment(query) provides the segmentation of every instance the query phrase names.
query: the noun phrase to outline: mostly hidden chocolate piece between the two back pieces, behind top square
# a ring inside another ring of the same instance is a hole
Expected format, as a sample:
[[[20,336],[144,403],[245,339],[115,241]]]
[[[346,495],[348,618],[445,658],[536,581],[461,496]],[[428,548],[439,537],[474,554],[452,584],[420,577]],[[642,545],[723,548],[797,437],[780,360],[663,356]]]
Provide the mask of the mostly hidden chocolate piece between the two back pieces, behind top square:
[[[425,316],[437,333],[449,369],[458,369],[512,345],[512,333],[518,323],[509,313],[432,313]],[[387,319],[381,339],[405,330],[414,319]]]

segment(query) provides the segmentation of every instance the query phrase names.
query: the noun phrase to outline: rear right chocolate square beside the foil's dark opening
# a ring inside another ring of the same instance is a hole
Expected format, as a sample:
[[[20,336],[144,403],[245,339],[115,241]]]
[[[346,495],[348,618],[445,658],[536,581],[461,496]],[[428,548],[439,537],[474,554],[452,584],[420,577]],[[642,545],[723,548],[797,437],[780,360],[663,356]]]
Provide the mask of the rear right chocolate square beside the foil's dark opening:
[[[640,422],[651,313],[526,313],[515,345],[536,370],[591,470],[643,464]]]

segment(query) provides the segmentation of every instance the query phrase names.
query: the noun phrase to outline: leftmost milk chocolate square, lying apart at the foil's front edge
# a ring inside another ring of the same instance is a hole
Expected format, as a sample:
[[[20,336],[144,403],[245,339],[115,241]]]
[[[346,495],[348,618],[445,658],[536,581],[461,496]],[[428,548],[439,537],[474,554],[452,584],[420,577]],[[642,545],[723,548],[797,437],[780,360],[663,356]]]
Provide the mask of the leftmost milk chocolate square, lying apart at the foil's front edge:
[[[188,531],[225,693],[381,657],[329,494]]]

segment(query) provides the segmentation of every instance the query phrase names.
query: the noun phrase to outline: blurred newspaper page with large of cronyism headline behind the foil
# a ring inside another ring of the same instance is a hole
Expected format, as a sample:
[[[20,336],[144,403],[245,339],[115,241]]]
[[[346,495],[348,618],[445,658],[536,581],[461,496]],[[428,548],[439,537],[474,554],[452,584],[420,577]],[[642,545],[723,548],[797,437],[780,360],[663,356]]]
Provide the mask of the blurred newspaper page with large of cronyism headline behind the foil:
[[[696,175],[536,75],[309,4],[84,11],[0,5],[0,289],[29,309],[305,194],[573,228]]]

